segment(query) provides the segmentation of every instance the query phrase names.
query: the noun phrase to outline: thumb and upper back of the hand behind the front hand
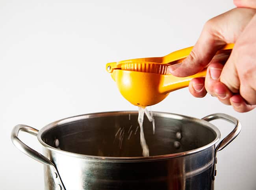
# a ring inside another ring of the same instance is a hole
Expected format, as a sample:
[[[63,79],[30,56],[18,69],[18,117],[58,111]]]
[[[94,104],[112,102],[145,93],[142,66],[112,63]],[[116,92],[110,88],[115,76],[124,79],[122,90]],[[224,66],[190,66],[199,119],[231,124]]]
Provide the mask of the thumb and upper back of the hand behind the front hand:
[[[256,9],[235,8],[211,18],[204,25],[190,55],[182,63],[169,66],[168,72],[174,76],[186,77],[202,70],[224,44],[237,41],[255,12]]]

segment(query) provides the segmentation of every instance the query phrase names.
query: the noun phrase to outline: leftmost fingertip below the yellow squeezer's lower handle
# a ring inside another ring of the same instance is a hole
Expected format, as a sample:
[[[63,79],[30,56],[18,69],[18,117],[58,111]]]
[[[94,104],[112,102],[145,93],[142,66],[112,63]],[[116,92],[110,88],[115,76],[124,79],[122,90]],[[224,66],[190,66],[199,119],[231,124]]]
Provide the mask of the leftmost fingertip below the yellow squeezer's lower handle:
[[[189,92],[197,98],[203,98],[207,94],[204,88],[204,78],[192,79],[189,83]]]

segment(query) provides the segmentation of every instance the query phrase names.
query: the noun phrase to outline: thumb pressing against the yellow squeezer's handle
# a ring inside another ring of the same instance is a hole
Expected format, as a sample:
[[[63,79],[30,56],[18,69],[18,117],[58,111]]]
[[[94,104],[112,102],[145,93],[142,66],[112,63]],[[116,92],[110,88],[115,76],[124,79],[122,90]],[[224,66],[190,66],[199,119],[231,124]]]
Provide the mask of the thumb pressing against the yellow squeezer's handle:
[[[210,63],[216,52],[226,44],[216,33],[214,23],[212,23],[211,20],[206,22],[189,56],[184,59],[182,63],[170,65],[167,73],[177,77],[186,77],[201,71]]]

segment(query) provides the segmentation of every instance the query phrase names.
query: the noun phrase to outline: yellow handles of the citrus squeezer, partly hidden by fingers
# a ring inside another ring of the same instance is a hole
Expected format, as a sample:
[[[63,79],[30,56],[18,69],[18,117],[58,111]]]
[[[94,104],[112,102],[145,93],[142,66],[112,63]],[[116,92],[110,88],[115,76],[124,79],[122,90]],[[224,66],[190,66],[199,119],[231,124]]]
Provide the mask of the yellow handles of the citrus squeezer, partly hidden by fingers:
[[[221,50],[219,50],[216,54],[224,53],[224,52],[230,53],[231,52],[230,50],[232,50],[233,47],[234,47],[234,44],[227,44]],[[189,55],[192,48],[193,47],[189,47],[189,48],[185,48],[185,49],[170,53],[169,55],[166,55],[163,57],[163,61],[165,61],[166,64],[169,63],[170,65],[180,63],[180,62],[182,62],[183,59],[185,59]],[[227,51],[227,50],[229,50],[229,51]],[[207,68],[204,68],[204,70],[198,72],[197,74],[188,76],[188,77],[176,77],[173,75],[164,75],[164,79],[163,79],[163,81],[161,81],[162,84],[159,85],[159,92],[161,94],[167,94],[174,90],[188,87],[189,82],[193,78],[205,77],[206,70],[207,70]]]

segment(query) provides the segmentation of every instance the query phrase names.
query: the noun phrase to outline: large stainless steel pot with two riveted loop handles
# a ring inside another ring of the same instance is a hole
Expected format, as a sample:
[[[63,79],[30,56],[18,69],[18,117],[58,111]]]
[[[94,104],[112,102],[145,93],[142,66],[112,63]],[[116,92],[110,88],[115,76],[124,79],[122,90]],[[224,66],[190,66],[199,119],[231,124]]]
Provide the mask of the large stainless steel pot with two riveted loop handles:
[[[154,118],[154,135],[150,122],[143,125],[150,157],[142,157],[136,111],[74,116],[40,131],[17,125],[11,140],[44,164],[45,190],[212,190],[216,153],[239,134],[239,121],[220,113],[197,119],[155,112]],[[209,122],[215,119],[234,124],[221,141]],[[43,154],[24,144],[19,131],[37,136]]]

